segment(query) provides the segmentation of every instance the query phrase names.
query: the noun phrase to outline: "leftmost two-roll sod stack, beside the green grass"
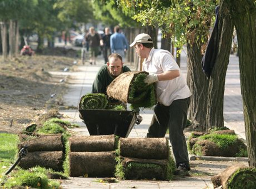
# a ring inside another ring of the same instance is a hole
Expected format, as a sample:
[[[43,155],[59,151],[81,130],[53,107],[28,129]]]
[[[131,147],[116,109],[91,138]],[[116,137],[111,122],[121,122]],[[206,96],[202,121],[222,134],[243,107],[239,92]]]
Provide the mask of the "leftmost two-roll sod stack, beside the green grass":
[[[64,146],[61,134],[24,135],[20,134],[20,150],[27,145],[27,155],[22,157],[19,166],[23,169],[40,166],[63,171]]]

